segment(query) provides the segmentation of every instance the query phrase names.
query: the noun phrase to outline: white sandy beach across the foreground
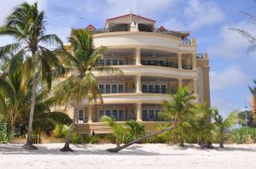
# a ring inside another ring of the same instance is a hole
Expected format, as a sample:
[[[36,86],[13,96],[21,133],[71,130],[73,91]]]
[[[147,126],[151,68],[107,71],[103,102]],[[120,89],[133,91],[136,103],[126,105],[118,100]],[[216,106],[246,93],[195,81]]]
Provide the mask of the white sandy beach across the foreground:
[[[185,148],[167,144],[135,144],[109,153],[113,144],[72,145],[74,152],[62,153],[63,144],[41,144],[38,150],[20,149],[20,144],[0,144],[0,168],[256,168],[256,144],[229,144],[225,149]]]

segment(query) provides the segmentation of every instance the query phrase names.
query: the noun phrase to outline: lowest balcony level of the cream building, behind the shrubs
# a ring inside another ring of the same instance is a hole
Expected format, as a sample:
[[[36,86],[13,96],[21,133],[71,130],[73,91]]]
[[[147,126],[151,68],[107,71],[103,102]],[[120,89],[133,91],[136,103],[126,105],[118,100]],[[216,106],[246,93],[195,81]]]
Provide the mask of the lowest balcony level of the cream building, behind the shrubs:
[[[107,115],[115,121],[164,121],[160,118],[160,104],[94,104],[79,106],[75,110],[77,123],[101,122]]]

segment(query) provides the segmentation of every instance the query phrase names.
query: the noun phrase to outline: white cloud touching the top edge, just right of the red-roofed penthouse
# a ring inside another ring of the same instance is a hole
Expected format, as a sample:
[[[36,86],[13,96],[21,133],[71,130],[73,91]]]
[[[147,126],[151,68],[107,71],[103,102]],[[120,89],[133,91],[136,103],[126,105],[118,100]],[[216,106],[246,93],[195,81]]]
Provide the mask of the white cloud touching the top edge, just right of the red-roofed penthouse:
[[[164,22],[174,30],[193,31],[224,20],[223,11],[212,1],[189,0],[177,9],[179,12]]]

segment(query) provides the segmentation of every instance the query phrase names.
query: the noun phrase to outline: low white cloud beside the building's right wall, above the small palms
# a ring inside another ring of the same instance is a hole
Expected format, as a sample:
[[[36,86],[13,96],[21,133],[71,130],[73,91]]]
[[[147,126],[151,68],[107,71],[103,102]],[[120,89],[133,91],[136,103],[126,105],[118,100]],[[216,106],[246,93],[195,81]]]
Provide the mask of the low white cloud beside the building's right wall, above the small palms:
[[[230,65],[222,71],[210,71],[211,89],[213,91],[247,85],[249,81],[250,78],[235,65]]]

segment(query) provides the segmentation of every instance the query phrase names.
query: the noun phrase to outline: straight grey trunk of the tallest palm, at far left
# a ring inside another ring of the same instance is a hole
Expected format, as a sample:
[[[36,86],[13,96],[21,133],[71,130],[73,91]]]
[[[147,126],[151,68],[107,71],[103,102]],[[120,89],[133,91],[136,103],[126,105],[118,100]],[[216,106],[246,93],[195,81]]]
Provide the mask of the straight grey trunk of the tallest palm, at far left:
[[[23,146],[23,149],[38,149],[36,146],[32,145],[32,123],[33,123],[33,115],[34,115],[34,109],[35,109],[35,103],[36,103],[36,88],[37,88],[37,80],[36,80],[36,76],[34,76],[32,80],[32,102],[31,102],[31,109],[29,114],[27,138],[26,138],[26,144]]]

